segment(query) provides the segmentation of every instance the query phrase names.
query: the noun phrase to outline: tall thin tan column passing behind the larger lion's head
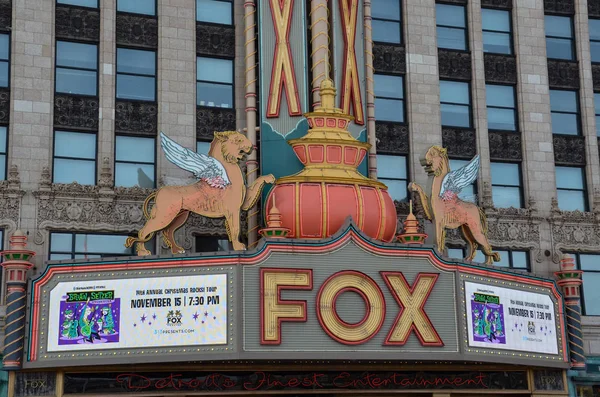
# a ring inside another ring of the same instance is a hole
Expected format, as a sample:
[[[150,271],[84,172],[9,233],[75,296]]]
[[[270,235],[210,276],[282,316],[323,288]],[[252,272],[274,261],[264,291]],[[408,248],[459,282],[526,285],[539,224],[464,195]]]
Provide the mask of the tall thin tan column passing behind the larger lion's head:
[[[246,180],[248,185],[256,180],[258,174],[258,154],[256,145],[256,4],[254,0],[244,2],[244,34],[246,60],[246,136],[254,146],[246,161]],[[258,242],[258,204],[248,211],[248,247]]]

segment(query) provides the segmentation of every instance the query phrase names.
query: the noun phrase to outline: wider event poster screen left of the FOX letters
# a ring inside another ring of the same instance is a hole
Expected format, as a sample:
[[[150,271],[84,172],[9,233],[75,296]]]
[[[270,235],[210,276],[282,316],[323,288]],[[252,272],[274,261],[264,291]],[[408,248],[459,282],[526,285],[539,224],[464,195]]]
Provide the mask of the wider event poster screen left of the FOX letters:
[[[48,351],[227,343],[227,275],[61,282]]]

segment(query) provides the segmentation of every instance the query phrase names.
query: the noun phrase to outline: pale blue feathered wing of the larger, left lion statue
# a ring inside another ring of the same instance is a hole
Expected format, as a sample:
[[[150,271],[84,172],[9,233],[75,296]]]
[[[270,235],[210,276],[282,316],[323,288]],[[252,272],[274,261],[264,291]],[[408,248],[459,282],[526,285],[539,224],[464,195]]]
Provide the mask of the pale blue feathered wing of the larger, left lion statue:
[[[225,167],[214,157],[186,149],[162,131],[160,132],[160,144],[167,160],[179,168],[193,173],[196,178],[221,189],[231,184]]]

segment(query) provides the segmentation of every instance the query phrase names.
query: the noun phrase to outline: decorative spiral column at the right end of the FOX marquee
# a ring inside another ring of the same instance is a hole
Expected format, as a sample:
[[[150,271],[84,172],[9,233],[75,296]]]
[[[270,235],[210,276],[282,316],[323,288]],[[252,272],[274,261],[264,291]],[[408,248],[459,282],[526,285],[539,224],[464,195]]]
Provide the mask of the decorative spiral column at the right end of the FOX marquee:
[[[555,272],[554,276],[558,279],[557,284],[562,288],[565,296],[571,368],[585,369],[581,332],[581,295],[579,293],[583,271],[575,269],[575,262],[570,255],[563,255],[560,260],[560,268],[561,270]]]

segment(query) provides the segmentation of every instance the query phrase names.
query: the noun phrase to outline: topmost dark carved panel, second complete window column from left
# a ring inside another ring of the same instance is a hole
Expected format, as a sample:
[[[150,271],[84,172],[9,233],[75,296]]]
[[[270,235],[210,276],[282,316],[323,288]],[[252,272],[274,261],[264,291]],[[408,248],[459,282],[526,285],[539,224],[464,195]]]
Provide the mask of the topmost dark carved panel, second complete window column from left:
[[[156,48],[158,20],[153,16],[117,12],[117,44]]]

